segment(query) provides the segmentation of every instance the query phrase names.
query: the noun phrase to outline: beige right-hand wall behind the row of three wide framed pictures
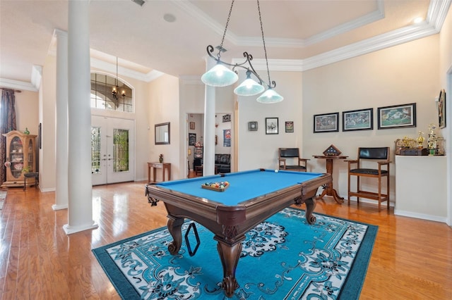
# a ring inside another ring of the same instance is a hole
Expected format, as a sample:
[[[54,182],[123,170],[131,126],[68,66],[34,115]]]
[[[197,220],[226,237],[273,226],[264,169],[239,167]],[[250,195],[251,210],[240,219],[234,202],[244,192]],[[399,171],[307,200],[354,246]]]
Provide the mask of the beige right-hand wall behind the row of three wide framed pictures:
[[[393,155],[396,139],[417,137],[419,130],[427,132],[428,124],[436,123],[439,86],[438,35],[305,72],[304,156],[321,155],[331,144],[350,158],[357,156],[358,146],[390,146]],[[377,130],[378,107],[410,103],[416,103],[417,127]],[[362,108],[374,108],[374,130],[342,132],[342,112]],[[313,133],[313,115],[336,112],[339,132]],[[314,171],[325,170],[325,161],[313,159],[310,164]],[[391,169],[394,201],[394,163]],[[346,163],[335,161],[333,183],[341,196],[347,196],[347,182]]]

